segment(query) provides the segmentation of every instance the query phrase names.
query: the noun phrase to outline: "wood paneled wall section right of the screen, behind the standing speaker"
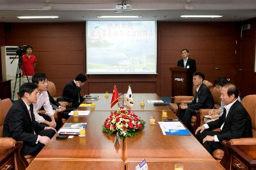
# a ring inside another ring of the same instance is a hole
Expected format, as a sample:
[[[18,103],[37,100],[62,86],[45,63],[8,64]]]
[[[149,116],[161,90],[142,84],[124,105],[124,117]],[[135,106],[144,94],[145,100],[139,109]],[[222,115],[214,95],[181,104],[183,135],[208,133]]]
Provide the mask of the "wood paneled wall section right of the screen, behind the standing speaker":
[[[161,96],[171,95],[169,68],[177,66],[183,48],[188,48],[205,80],[226,76],[239,82],[240,38],[235,22],[158,22],[157,27]]]

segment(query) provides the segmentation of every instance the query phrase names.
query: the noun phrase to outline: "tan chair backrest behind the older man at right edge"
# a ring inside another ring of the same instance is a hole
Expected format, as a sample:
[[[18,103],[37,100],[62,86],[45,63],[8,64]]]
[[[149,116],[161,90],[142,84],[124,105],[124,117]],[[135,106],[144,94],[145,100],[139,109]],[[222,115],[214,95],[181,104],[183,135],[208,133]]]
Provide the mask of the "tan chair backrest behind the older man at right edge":
[[[256,95],[244,97],[241,103],[252,118],[252,136],[256,138]]]

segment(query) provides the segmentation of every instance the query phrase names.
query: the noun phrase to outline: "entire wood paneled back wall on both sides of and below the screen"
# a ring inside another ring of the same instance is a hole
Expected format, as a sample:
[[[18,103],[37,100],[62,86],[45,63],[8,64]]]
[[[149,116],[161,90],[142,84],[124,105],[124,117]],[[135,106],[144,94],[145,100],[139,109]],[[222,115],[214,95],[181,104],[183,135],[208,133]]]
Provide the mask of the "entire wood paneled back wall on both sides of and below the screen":
[[[84,22],[10,24],[10,28],[4,31],[4,45],[32,45],[38,59],[36,71],[47,74],[58,95],[77,73],[85,73]],[[176,66],[182,48],[189,49],[207,80],[227,76],[238,84],[239,36],[235,22],[157,22],[157,75],[89,75],[83,91],[112,92],[115,83],[119,92],[126,92],[131,84],[132,92],[171,96],[169,68]]]

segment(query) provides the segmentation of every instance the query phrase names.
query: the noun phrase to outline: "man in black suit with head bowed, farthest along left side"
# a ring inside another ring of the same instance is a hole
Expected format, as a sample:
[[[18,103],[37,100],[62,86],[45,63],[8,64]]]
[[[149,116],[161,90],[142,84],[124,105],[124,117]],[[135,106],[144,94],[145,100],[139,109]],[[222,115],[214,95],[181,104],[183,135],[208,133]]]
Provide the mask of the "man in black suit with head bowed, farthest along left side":
[[[65,85],[63,89],[62,96],[72,99],[72,108],[78,108],[81,103],[83,103],[84,99],[81,96],[81,86],[84,85],[87,80],[86,76],[83,73],[80,73],[76,76],[75,80],[70,81]]]

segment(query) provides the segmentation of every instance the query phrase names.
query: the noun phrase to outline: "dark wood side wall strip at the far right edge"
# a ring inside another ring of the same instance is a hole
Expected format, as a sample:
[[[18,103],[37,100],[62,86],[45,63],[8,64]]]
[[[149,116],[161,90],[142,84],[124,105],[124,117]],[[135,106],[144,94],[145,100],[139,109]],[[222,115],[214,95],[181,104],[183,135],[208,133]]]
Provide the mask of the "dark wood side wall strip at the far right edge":
[[[251,29],[244,30],[241,38],[241,96],[256,94],[255,48],[256,48],[256,18],[243,22],[251,24]]]

